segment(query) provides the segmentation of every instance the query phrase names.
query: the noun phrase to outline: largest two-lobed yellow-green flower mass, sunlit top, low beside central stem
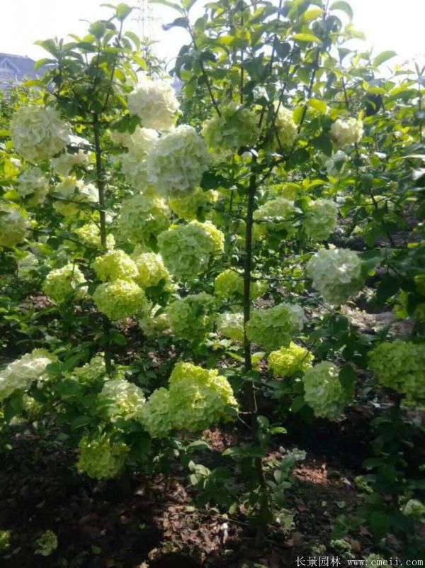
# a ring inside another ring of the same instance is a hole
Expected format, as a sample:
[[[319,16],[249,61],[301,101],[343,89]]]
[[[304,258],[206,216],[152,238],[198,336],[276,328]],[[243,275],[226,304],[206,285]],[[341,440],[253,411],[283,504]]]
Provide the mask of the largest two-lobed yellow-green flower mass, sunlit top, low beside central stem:
[[[199,432],[229,420],[229,406],[237,409],[237,401],[225,377],[217,370],[179,362],[169,390],[157,389],[145,404],[142,423],[153,438],[164,438],[174,429]]]

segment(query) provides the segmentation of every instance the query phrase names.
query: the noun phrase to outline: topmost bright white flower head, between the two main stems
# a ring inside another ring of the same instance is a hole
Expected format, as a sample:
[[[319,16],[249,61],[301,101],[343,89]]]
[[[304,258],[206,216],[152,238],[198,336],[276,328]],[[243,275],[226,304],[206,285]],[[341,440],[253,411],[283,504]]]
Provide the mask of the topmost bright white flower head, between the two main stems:
[[[139,116],[146,128],[169,130],[176,121],[179,102],[171,83],[141,77],[128,96],[128,110]]]

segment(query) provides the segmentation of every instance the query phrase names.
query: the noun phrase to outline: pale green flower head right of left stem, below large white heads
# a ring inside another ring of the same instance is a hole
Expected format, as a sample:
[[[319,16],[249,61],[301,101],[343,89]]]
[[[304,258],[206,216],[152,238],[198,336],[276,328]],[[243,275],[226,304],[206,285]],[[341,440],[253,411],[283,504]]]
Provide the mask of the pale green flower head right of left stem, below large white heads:
[[[169,228],[170,210],[164,199],[148,192],[126,199],[118,218],[118,231],[132,243],[149,242]]]

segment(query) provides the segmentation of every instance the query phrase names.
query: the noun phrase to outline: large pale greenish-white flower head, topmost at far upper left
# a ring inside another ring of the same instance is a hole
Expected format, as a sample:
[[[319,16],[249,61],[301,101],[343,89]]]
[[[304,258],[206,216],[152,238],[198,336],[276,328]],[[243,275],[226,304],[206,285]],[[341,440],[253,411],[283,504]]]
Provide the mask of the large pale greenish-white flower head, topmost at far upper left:
[[[22,106],[12,116],[11,138],[26,160],[45,160],[64,149],[69,128],[55,108]]]

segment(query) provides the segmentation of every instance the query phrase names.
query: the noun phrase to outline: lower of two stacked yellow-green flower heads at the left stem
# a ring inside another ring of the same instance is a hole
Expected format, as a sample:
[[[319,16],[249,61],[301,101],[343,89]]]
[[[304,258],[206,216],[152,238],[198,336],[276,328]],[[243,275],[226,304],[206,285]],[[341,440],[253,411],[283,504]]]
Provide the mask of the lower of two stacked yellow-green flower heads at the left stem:
[[[145,292],[132,280],[114,280],[100,284],[93,294],[98,310],[112,321],[135,316],[142,311],[147,299]]]

